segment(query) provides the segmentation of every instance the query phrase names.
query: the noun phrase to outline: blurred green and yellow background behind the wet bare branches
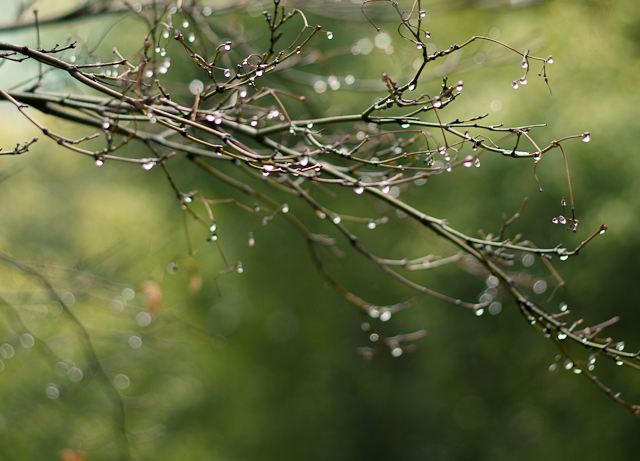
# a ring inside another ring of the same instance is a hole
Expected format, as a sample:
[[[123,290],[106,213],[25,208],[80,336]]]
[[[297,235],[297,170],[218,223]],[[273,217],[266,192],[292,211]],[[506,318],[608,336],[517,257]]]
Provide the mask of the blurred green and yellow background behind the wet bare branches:
[[[43,13],[65,6],[55,3],[42,2]],[[335,17],[343,11],[336,2],[305,3],[298,5],[308,7],[310,20],[334,33],[332,41],[318,40],[320,48],[348,51],[358,40],[375,37],[357,5],[346,10],[349,17]],[[484,154],[480,169],[435,178],[403,197],[474,233],[498,229],[501,213],[515,211],[528,196],[516,230],[539,245],[573,246],[607,223],[605,238],[558,267],[579,315],[598,322],[620,314],[622,322],[609,334],[626,338],[631,350],[638,347],[637,2],[425,4],[432,41],[439,47],[483,34],[533,54],[552,54],[555,60],[550,68],[553,96],[534,75],[526,88],[514,91],[511,81],[521,72],[517,57],[488,45],[469,48],[461,54],[459,69],[449,71],[451,80],[464,80],[464,97],[445,113],[453,118],[489,112],[489,120],[509,125],[546,122],[548,128],[538,133],[546,142],[584,130],[593,140],[567,145],[582,220],[577,235],[550,223],[566,194],[559,156],[545,159],[539,169],[543,193],[537,192],[530,162]],[[244,24],[251,40],[264,39],[259,17],[234,18],[230,24]],[[214,13],[211,21],[216,20]],[[43,37],[55,43],[72,33],[95,43],[113,22],[79,21],[73,30],[53,26],[43,30]],[[393,37],[393,56],[379,50],[357,57],[338,53],[306,70],[351,73],[357,79],[354,87],[378,80],[383,71],[406,76],[415,49],[398,40],[391,23],[381,24]],[[104,56],[116,45],[133,50],[140,33],[135,21],[118,22],[100,50]],[[33,43],[27,32],[0,34],[0,40]],[[2,87],[27,77],[25,69],[0,67]],[[191,67],[179,63],[170,73],[174,82],[196,77]],[[427,77],[424,89],[436,88],[438,69]],[[64,89],[68,82],[57,78],[50,85]],[[306,94],[308,104],[292,110],[310,116],[359,111],[376,97],[349,89],[315,94],[286,79],[273,83]],[[2,147],[33,137],[33,128],[10,105],[0,105],[0,117]],[[42,119],[55,129],[79,133],[69,124]],[[185,189],[252,204],[186,163],[173,168]],[[72,301],[108,374],[130,378],[121,392],[136,459],[596,461],[635,459],[640,449],[638,419],[581,377],[549,373],[553,346],[528,327],[506,298],[500,315],[477,318],[416,297],[410,310],[374,328],[388,333],[425,328],[428,336],[415,352],[394,359],[387,351],[366,361],[356,352],[368,343],[361,315],[324,283],[304,240],[281,217],[262,227],[235,207],[217,208],[220,247],[244,267],[242,274],[221,274],[224,264],[217,249],[204,243],[205,235],[192,223],[195,255],[186,256],[183,212],[155,169],[119,164],[98,169],[43,139],[27,155],[0,157],[0,180],[0,249],[45,273]],[[331,234],[331,226],[311,216],[302,202],[275,197],[287,200],[292,212],[318,231]],[[393,216],[351,192],[339,194],[331,206],[357,215]],[[375,231],[350,226],[366,233],[365,241],[381,254],[416,257],[445,250],[404,221]],[[253,248],[247,245],[251,231],[256,234]],[[381,304],[415,296],[353,254],[344,241],[340,247],[345,257],[325,259],[355,293]],[[171,262],[179,264],[175,274],[166,269]],[[89,375],[80,383],[61,376],[56,359],[39,341],[32,348],[19,345],[19,335],[28,328],[58,357],[82,368],[86,363],[77,333],[32,280],[6,268],[0,277],[0,293],[13,304],[1,306],[0,342],[15,346],[15,356],[3,360],[0,372],[0,459],[58,459],[65,448],[83,450],[91,460],[115,459],[111,407],[100,383]],[[202,287],[196,291],[190,287],[198,277]],[[477,297],[484,284],[453,268],[419,277],[465,298]],[[141,290],[146,280],[159,284],[163,304],[151,325],[141,327],[135,317],[146,309]],[[123,299],[126,288],[136,291],[134,299]],[[129,346],[132,335],[142,338],[140,349]],[[636,374],[606,364],[602,374],[638,400]],[[48,383],[60,387],[58,399],[47,398]]]

